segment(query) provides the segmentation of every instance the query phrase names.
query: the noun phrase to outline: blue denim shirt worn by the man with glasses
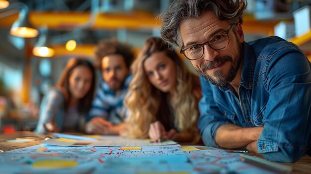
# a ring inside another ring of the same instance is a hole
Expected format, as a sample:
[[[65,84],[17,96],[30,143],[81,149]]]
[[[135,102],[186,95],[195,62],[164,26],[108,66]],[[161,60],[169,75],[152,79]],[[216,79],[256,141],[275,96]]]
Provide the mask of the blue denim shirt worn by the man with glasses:
[[[217,147],[222,124],[264,126],[258,153],[276,162],[295,162],[307,149],[311,134],[311,63],[293,43],[268,37],[243,43],[238,97],[231,85],[217,87],[200,76],[200,135]]]

